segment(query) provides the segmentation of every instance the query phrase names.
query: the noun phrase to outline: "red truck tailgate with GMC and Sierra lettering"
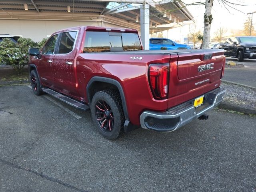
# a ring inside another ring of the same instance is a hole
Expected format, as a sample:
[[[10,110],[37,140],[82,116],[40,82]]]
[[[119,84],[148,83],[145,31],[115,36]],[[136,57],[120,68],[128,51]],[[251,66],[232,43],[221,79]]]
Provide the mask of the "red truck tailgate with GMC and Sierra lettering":
[[[220,86],[224,50],[198,50],[171,54],[168,108]]]

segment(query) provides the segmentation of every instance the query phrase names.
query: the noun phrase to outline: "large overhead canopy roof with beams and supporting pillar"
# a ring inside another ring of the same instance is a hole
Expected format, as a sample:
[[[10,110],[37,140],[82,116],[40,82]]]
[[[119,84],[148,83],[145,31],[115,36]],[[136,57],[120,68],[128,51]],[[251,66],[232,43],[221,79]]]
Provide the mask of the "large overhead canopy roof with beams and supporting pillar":
[[[146,27],[149,34],[194,22],[190,12],[175,0],[1,0],[1,20],[91,22],[139,31]]]

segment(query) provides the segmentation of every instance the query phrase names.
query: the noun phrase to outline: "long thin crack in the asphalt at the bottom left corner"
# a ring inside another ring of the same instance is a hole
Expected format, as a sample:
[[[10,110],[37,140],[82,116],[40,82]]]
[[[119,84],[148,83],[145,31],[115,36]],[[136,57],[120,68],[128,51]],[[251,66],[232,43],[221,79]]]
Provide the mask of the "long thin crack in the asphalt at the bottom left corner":
[[[85,190],[79,189],[79,188],[77,188],[77,187],[74,186],[74,185],[67,184],[67,183],[63,182],[62,180],[58,180],[58,179],[56,179],[56,178],[49,177],[49,176],[47,176],[47,175],[45,175],[45,174],[38,173],[38,172],[33,171],[33,170],[31,170],[31,169],[26,169],[26,168],[20,167],[20,166],[18,166],[18,165],[15,165],[15,164],[13,164],[13,163],[11,163],[11,162],[6,161],[6,160],[0,159],[0,162],[2,162],[2,163],[5,164],[5,165],[11,166],[11,167],[13,167],[13,168],[21,169],[21,170],[28,171],[28,172],[30,172],[30,173],[36,174],[36,175],[38,175],[38,176],[40,176],[40,177],[42,177],[42,178],[44,178],[44,179],[46,179],[46,180],[49,180],[49,181],[52,181],[52,182],[56,182],[56,183],[61,184],[61,185],[65,186],[65,187],[68,187],[68,188],[70,188],[70,189],[74,189],[74,190],[77,190],[77,191],[79,191],[79,192],[89,192],[89,191],[85,191]]]

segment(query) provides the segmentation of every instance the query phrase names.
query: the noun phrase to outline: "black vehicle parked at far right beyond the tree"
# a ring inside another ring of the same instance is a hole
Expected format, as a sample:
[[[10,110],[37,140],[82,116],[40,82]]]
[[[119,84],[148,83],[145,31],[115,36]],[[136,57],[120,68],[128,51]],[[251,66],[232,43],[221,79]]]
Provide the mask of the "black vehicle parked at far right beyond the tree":
[[[225,50],[225,56],[235,57],[238,61],[243,61],[244,58],[256,59],[255,36],[229,38],[225,44],[220,44],[219,48]]]

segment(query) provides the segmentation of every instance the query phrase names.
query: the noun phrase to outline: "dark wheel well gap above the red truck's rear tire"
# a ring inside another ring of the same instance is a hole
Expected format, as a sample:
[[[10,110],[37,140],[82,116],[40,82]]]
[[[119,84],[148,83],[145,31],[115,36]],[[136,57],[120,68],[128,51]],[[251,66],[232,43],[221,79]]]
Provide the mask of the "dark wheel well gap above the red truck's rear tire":
[[[94,94],[98,91],[104,90],[104,89],[113,89],[113,90],[118,90],[117,86],[111,84],[111,83],[107,83],[107,82],[100,82],[100,81],[94,81],[91,85],[90,88],[88,89],[88,102],[91,103],[92,101],[92,97],[94,96]],[[120,94],[120,92],[119,92]]]

